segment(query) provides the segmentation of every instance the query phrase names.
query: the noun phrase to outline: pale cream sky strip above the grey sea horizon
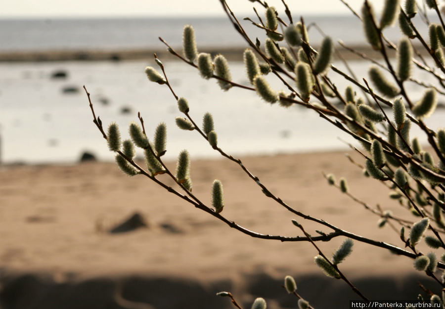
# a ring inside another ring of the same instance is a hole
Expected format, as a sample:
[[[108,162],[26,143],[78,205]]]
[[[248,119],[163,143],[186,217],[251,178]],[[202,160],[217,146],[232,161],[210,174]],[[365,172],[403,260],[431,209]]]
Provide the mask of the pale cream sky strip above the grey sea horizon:
[[[226,0],[237,14],[253,13],[249,0]],[[362,0],[347,0],[359,10]],[[377,11],[383,0],[371,0]],[[281,0],[267,0],[284,11]],[[349,14],[340,0],[286,0],[293,16]],[[258,3],[255,7],[259,8]],[[261,10],[260,10],[261,12]],[[152,17],[223,15],[219,0],[0,0],[0,18]]]

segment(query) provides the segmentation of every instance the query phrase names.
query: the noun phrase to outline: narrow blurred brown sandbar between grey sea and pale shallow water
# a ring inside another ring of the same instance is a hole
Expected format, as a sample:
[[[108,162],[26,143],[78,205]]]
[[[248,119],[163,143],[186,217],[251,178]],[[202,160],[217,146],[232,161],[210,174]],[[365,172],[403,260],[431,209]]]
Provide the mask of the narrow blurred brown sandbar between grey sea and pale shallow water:
[[[212,56],[223,54],[229,61],[242,61],[243,51],[247,47],[207,47],[200,48],[200,52],[210,53]],[[368,45],[350,46],[359,53],[366,54],[371,58],[381,58],[379,52],[375,51]],[[362,58],[342,46],[337,45],[341,55],[346,60],[361,60]],[[178,53],[181,47],[176,48]],[[50,62],[50,61],[125,61],[125,60],[144,60],[151,59],[153,53],[156,53],[160,59],[175,59],[176,57],[167,51],[166,48],[159,49],[115,49],[115,50],[40,50],[40,51],[0,51],[0,62]],[[395,51],[388,50],[390,58],[395,57]],[[334,54],[334,59],[339,59]]]

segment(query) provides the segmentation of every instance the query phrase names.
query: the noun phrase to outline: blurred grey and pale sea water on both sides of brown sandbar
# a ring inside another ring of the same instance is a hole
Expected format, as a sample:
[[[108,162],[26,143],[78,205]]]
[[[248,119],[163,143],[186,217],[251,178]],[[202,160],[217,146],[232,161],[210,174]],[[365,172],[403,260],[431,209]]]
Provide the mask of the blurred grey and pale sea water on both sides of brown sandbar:
[[[241,22],[249,36],[264,42],[261,30],[249,20]],[[314,45],[320,43],[323,35],[346,44],[366,44],[360,23],[353,15],[309,16],[305,22]],[[198,49],[247,47],[225,17],[3,19],[0,53],[165,50],[159,37],[180,51],[182,28],[187,24],[195,28]],[[419,29],[427,33],[421,22]],[[386,30],[385,35],[397,42],[397,25]],[[348,143],[356,145],[353,138],[315,112],[298,106],[286,109],[271,105],[254,91],[241,88],[222,91],[215,80],[202,79],[196,69],[184,62],[169,59],[163,63],[175,93],[188,100],[194,122],[201,125],[206,112],[213,115],[219,146],[229,155],[328,151],[348,149]],[[334,65],[346,70],[342,62],[336,61]],[[367,76],[369,62],[354,60],[349,65],[360,80]],[[85,152],[102,161],[114,160],[92,122],[84,86],[104,127],[116,122],[122,138],[128,138],[128,124],[137,122],[140,113],[149,138],[159,123],[167,124],[167,159],[174,160],[182,149],[187,149],[192,159],[220,157],[198,132],[178,129],[175,118],[182,115],[176,99],[166,85],[148,81],[146,66],[157,67],[151,55],[126,61],[1,62],[0,162],[74,164]],[[242,62],[229,61],[229,68],[234,82],[248,85]],[[66,76],[54,78],[60,72]],[[416,69],[415,74],[423,81],[437,84],[423,71]],[[350,85],[332,71],[329,76],[341,91]],[[269,75],[267,80],[274,89],[286,90],[274,76]],[[416,100],[423,88],[409,84],[408,90]],[[362,95],[359,89],[356,91]],[[444,127],[444,116],[439,111],[427,120],[427,125],[432,129]],[[412,134],[426,140],[415,128]],[[141,156],[141,152],[137,155]]]

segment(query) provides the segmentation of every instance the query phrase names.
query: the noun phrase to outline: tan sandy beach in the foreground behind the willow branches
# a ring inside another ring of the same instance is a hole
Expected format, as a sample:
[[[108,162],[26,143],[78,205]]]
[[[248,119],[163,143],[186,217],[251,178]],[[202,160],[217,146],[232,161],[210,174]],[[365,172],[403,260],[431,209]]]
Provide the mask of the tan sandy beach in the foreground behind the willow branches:
[[[389,226],[377,228],[378,216],[327,184],[322,171],[335,174],[337,179],[346,177],[351,193],[371,208],[379,204],[383,210],[393,211],[395,216],[413,220],[388,197],[388,189],[382,183],[362,177],[361,169],[351,164],[345,153],[241,159],[270,192],[290,207],[364,237],[402,246],[398,232]],[[358,154],[351,155],[357,162],[362,162]],[[175,162],[168,163],[173,171],[175,165]],[[214,179],[220,179],[225,200],[222,215],[254,232],[303,235],[291,223],[292,219],[302,223],[312,235],[316,234],[315,229],[331,232],[275,203],[229,160],[193,161],[191,177],[193,193],[209,206],[211,184]],[[158,179],[183,192],[167,175],[158,176]],[[127,233],[107,232],[135,212],[143,216],[148,227]],[[317,245],[330,256],[343,240],[339,237]],[[0,306],[4,308],[71,308],[64,307],[62,301],[54,303],[51,293],[55,293],[54,289],[60,292],[64,287],[63,291],[68,295],[68,291],[76,290],[74,287],[79,288],[80,283],[88,282],[91,287],[81,285],[80,291],[83,292],[79,292],[80,295],[97,289],[94,294],[102,295],[108,307],[88,307],[85,301],[84,305],[73,308],[139,308],[131,307],[135,306],[133,303],[115,304],[119,303],[116,301],[116,278],[121,278],[119,282],[124,286],[118,292],[125,299],[134,297],[133,301],[149,304],[140,308],[192,308],[183,307],[184,303],[167,302],[171,298],[179,302],[183,299],[179,295],[188,288],[190,293],[185,293],[184,299],[200,298],[203,306],[213,308],[231,308],[229,300],[214,294],[229,289],[244,304],[249,304],[257,296],[276,298],[281,295],[291,298],[279,302],[271,300],[268,308],[296,308],[297,298],[288,296],[279,286],[287,274],[296,278],[303,297],[312,304],[318,302],[320,307],[317,308],[326,308],[317,294],[321,290],[323,293],[331,291],[329,293],[336,297],[346,293],[346,300],[358,299],[344,282],[326,278],[321,273],[313,263],[315,255],[317,251],[310,243],[264,240],[242,234],[146,177],[125,176],[113,163],[7,166],[0,169],[0,282],[3,283]],[[397,296],[394,293],[402,287],[410,291],[414,289],[417,294],[420,292],[415,280],[405,280],[407,276],[420,274],[413,269],[412,260],[385,249],[356,242],[352,256],[340,268],[356,283],[366,278],[362,287],[370,291],[371,299],[382,299],[391,291],[390,296]],[[322,281],[316,283],[314,278]],[[319,282],[325,282],[325,287],[321,289]],[[172,288],[173,283],[178,284],[177,289]],[[163,284],[167,292],[162,288]],[[304,286],[307,286],[306,290]],[[192,287],[199,288],[194,290]],[[339,287],[343,292],[335,290]],[[34,295],[30,289],[39,295],[42,301],[36,304],[40,305],[20,307],[18,304],[20,300],[23,302],[23,295],[30,299],[37,297],[30,296]],[[138,290],[143,297],[132,296]],[[201,290],[207,293],[208,300],[197,296]],[[270,292],[272,290],[275,292]],[[328,294],[323,295],[327,297]],[[52,302],[42,303],[45,297]],[[114,301],[110,301],[113,298]],[[110,302],[115,304],[114,307],[109,305]],[[342,308],[347,305],[345,303]]]

